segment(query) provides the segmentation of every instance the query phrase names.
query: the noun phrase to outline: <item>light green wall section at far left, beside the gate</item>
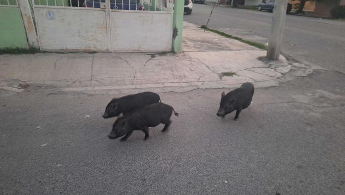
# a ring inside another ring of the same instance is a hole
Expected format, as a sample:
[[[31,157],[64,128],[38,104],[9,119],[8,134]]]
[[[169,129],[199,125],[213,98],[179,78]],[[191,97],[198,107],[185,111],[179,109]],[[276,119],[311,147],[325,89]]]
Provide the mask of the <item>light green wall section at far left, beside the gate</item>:
[[[0,7],[0,48],[28,48],[19,7]]]

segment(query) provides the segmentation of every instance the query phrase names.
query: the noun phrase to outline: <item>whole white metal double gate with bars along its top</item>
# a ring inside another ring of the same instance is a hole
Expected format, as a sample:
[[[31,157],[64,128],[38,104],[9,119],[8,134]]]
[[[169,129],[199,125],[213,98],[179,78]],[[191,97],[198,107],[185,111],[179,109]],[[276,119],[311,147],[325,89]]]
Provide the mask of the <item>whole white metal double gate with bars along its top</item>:
[[[32,0],[41,50],[169,51],[173,0]]]

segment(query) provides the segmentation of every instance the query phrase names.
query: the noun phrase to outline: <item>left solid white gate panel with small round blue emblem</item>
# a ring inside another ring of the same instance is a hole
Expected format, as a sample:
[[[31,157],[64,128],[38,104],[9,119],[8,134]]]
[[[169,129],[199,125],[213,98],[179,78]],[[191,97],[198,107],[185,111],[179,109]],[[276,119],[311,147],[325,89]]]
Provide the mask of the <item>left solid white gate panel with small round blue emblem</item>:
[[[34,5],[41,50],[109,50],[106,10]]]

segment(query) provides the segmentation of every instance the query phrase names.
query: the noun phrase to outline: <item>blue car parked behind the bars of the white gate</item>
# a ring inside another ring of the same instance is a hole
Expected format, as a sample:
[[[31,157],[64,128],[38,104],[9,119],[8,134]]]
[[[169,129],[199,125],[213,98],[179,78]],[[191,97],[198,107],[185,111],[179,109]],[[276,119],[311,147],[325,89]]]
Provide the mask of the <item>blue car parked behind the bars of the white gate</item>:
[[[101,8],[100,2],[105,3],[105,0],[83,0],[82,7]],[[110,0],[110,8],[121,10],[145,10],[141,0]]]

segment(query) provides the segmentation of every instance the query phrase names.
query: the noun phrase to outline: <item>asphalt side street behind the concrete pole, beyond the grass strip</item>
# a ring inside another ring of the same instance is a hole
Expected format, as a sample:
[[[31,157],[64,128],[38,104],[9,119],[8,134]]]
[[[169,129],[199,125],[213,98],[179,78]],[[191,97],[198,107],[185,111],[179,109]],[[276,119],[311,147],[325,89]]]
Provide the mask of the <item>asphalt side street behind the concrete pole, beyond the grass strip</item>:
[[[206,24],[212,5],[193,4],[190,23]],[[209,27],[259,43],[267,43],[272,13],[216,6]],[[197,35],[195,35],[197,36]],[[288,14],[283,52],[305,62],[345,73],[345,21]]]

